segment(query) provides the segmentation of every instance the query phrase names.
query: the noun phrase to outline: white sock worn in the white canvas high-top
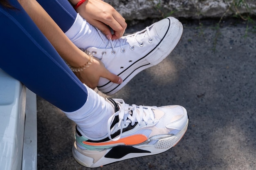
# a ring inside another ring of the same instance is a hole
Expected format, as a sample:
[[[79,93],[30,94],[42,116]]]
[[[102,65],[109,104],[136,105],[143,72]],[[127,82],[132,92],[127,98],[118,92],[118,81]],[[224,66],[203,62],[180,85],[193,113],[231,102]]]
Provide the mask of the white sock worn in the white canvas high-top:
[[[78,48],[84,50],[88,49],[88,47],[100,47],[101,44],[108,43],[106,35],[99,33],[79,13],[77,13],[75,22],[65,34]]]

